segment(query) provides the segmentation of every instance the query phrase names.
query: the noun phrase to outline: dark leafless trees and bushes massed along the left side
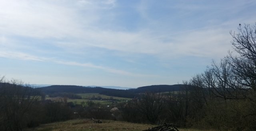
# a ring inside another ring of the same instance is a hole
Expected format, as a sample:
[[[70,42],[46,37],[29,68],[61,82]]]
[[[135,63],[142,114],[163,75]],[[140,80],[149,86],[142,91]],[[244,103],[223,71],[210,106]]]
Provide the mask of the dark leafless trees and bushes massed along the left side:
[[[62,102],[44,100],[45,94],[20,80],[0,77],[0,131],[22,131],[42,123],[72,119]]]

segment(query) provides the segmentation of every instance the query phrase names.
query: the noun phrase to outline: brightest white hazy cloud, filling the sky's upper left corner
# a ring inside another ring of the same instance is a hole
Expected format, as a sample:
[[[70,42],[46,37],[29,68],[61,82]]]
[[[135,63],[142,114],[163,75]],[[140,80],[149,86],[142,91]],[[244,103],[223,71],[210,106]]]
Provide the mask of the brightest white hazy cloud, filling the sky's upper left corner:
[[[97,14],[100,9],[95,9],[99,7],[97,2],[90,2],[92,5],[88,9],[78,8],[75,2],[2,0],[0,32],[33,38],[76,38],[100,19]]]

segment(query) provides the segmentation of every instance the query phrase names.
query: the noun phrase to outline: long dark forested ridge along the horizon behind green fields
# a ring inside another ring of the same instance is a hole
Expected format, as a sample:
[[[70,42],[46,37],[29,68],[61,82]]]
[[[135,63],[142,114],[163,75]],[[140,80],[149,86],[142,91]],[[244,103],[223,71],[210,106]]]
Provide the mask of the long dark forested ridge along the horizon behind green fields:
[[[53,93],[100,93],[109,96],[116,97],[127,97],[133,98],[137,97],[138,93],[145,92],[168,92],[168,91],[178,91],[182,85],[150,85],[144,87],[138,87],[137,89],[108,89],[102,87],[84,87],[77,85],[51,85],[47,87],[40,87],[42,92],[46,94]]]

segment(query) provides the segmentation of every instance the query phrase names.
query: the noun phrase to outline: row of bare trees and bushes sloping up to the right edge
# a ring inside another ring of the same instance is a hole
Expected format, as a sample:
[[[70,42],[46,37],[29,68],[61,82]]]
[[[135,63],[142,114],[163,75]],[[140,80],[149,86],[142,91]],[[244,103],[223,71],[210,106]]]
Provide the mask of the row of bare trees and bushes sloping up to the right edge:
[[[256,129],[256,24],[230,32],[233,51],[169,95],[145,93],[120,107],[131,122],[172,122],[224,131]],[[142,119],[143,118],[143,119]]]

